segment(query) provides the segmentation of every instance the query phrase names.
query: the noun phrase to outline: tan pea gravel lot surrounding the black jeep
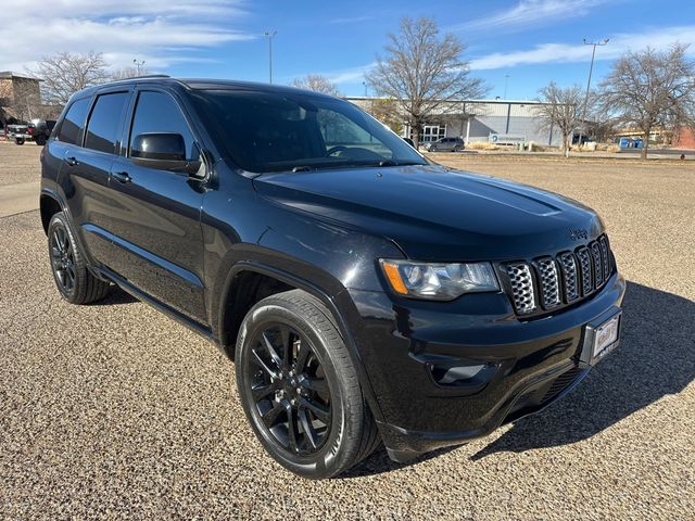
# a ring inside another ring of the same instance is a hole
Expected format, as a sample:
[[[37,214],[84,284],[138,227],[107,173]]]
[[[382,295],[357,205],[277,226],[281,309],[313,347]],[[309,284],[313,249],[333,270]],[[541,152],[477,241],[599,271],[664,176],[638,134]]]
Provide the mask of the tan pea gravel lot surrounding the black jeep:
[[[0,142],[0,186],[38,179],[37,149]],[[606,220],[624,335],[571,395],[413,465],[381,449],[301,480],[255,441],[212,344],[121,292],[59,298],[33,211],[0,218],[0,518],[693,519],[695,165],[439,160]]]

